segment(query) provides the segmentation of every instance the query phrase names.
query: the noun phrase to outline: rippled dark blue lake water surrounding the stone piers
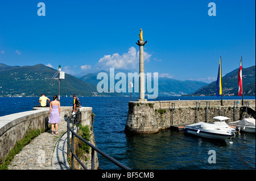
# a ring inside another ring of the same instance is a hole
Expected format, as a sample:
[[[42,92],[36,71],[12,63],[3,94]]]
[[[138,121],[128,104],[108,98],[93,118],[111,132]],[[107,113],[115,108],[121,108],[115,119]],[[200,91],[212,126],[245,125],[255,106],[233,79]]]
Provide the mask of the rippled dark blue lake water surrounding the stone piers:
[[[38,99],[0,98],[0,116],[31,111],[39,104]],[[158,99],[212,100],[216,97],[172,96]],[[224,96],[223,99],[241,100],[241,97]],[[255,99],[255,96],[245,96],[244,99]],[[241,133],[228,141],[194,137],[170,129],[128,136],[124,129],[130,97],[80,97],[80,100],[82,106],[93,107],[96,115],[93,128],[97,147],[131,169],[255,169],[255,134]],[[137,97],[132,100],[137,100]],[[61,106],[72,106],[72,97],[61,97]],[[216,163],[208,163],[209,150],[216,152]],[[98,157],[101,169],[118,169],[101,155]]]

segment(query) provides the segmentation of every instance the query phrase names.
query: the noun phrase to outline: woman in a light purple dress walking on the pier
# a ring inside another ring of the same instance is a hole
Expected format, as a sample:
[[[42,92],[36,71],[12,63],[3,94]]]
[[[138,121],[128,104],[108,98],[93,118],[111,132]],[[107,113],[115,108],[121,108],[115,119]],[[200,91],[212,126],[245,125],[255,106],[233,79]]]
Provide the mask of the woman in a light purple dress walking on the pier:
[[[52,124],[52,133],[53,134],[53,129],[54,129],[54,124],[55,124],[55,134],[59,134],[58,131],[58,123],[60,123],[60,102],[57,101],[57,95],[53,96],[53,101],[50,103],[50,108],[49,108],[49,123]]]

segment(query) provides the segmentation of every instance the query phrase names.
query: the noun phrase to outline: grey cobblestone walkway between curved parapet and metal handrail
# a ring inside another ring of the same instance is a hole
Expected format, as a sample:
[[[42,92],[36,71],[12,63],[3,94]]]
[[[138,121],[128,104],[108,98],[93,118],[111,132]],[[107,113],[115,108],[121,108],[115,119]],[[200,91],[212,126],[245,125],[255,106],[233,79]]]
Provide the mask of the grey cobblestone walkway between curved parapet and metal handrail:
[[[67,122],[58,124],[59,134],[51,134],[51,131],[41,133],[30,144],[24,146],[19,154],[16,154],[9,165],[9,170],[52,170],[53,153],[61,136],[67,131]],[[59,144],[58,144],[59,145]]]

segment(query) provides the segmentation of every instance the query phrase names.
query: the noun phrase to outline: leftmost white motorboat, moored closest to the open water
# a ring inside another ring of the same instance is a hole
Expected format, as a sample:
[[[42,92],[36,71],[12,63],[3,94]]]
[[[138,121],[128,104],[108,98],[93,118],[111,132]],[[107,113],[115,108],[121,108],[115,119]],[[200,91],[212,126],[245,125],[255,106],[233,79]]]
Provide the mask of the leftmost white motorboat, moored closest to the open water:
[[[191,125],[185,125],[184,131],[189,134],[194,134],[197,136],[221,139],[230,138],[234,135],[232,129],[228,130],[219,127],[216,124],[199,122]]]

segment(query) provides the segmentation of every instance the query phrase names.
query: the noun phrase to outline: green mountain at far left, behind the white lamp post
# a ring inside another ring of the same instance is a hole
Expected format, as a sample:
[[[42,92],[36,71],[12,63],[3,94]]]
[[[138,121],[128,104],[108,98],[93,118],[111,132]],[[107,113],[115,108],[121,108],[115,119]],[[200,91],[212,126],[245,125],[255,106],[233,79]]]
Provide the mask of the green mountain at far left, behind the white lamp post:
[[[0,64],[0,96],[47,96],[59,94],[59,80],[52,79],[57,70],[38,64],[7,66]],[[96,87],[72,75],[60,81],[60,95],[92,96]]]

